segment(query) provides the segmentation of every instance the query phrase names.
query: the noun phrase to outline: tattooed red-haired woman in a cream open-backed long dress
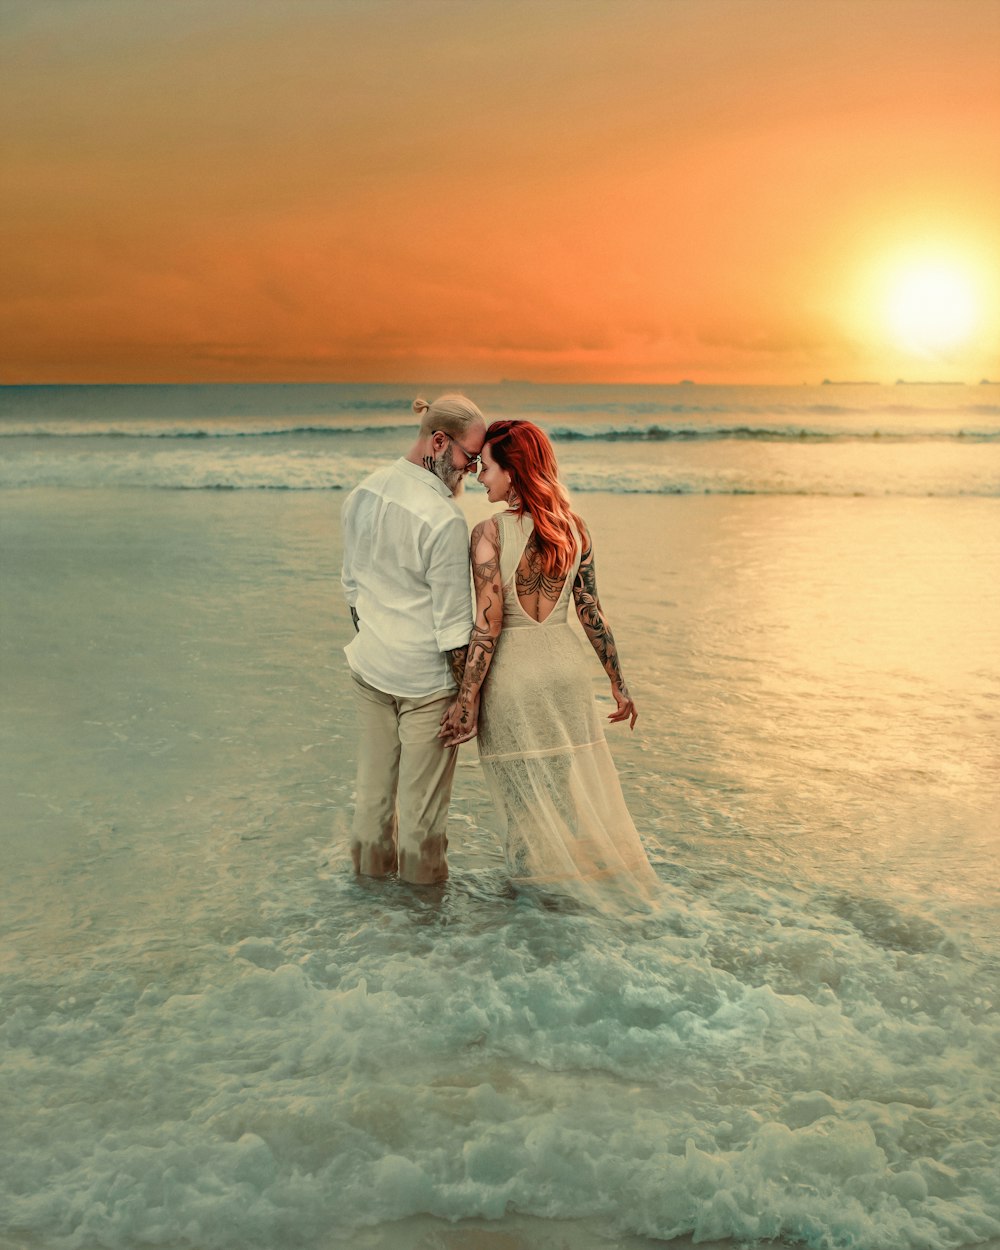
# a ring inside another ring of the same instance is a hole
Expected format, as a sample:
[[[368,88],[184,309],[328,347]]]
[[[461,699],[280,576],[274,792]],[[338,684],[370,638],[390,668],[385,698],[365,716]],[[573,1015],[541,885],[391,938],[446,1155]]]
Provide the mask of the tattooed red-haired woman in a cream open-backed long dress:
[[[655,874],[568,620],[571,598],[611,682],[608,719],[634,726],[638,711],[598,599],[586,526],[536,425],[494,421],[480,459],[490,502],[506,509],[472,530],[476,620],[441,736],[449,744],[479,736],[515,881],[558,884],[601,904],[614,895],[649,899]]]

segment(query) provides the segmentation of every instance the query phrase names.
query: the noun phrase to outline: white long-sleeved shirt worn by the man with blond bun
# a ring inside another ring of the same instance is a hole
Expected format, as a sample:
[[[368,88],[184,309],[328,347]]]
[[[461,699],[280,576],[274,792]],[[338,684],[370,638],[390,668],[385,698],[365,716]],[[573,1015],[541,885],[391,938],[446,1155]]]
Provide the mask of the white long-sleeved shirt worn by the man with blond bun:
[[[451,690],[444,654],[472,632],[469,530],[448,486],[400,459],[344,502],[348,604],[359,631],[344,649],[376,690],[419,698]]]

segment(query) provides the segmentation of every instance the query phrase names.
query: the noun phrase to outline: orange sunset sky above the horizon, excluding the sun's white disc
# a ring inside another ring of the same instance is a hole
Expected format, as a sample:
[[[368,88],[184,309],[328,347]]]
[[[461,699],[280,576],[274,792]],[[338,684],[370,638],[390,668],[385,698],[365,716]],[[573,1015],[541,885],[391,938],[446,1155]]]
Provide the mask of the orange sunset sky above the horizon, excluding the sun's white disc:
[[[0,0],[0,380],[996,378],[998,65],[1000,0]]]

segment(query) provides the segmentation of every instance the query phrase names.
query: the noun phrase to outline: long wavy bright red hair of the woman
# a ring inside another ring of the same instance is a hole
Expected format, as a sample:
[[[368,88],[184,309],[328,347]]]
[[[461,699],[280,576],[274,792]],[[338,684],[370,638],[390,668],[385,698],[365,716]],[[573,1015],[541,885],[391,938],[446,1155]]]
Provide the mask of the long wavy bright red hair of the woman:
[[[582,535],[584,524],[559,480],[549,435],[531,421],[494,421],[486,442],[494,460],[510,474],[518,496],[511,508],[519,516],[528,512],[535,522],[545,576],[564,578],[576,558],[576,534]]]

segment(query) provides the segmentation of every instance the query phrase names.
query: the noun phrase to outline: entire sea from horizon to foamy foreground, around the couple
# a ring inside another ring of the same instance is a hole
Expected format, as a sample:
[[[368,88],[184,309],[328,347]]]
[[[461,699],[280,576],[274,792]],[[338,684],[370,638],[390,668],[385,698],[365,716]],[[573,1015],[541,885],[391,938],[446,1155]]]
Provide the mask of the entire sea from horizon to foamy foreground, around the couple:
[[[448,886],[349,870],[415,390],[0,391],[0,1244],[990,1244],[998,389],[470,392],[594,531],[660,911],[511,891],[471,746]]]

